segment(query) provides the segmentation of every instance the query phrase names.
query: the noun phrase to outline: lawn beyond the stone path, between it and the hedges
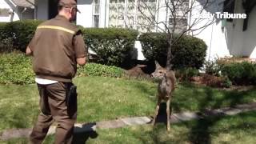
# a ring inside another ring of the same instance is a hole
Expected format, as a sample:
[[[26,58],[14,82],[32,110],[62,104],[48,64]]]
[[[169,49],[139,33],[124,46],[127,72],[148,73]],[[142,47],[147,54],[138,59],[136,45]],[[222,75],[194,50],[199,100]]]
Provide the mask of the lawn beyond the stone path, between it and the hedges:
[[[78,85],[78,122],[154,114],[156,83],[102,77],[76,78],[74,83]],[[255,88],[238,92],[181,84],[172,106],[176,113],[234,106],[256,102],[255,92]],[[38,112],[35,85],[0,85],[0,132],[32,127]]]

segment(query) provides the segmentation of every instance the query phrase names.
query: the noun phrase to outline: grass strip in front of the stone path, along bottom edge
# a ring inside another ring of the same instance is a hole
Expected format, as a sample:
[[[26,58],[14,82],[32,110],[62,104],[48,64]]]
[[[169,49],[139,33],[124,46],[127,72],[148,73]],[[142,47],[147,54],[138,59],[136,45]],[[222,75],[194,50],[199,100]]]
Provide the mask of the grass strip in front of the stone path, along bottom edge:
[[[236,116],[215,117],[183,122],[171,126],[170,133],[166,126],[158,123],[154,128],[149,125],[129,126],[111,130],[74,135],[74,143],[200,143],[200,144],[253,144],[256,142],[256,112],[251,111]],[[45,144],[53,143],[54,136],[46,138]],[[0,143],[27,143],[26,138],[12,139]]]

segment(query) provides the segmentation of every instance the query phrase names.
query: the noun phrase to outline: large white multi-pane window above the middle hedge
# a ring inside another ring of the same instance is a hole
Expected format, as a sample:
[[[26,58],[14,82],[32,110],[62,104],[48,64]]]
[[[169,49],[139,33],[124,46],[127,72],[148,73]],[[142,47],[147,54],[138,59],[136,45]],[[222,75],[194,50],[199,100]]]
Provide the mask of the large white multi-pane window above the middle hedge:
[[[143,32],[152,30],[154,27],[149,25],[148,18],[155,18],[156,6],[156,0],[110,0],[109,26]]]

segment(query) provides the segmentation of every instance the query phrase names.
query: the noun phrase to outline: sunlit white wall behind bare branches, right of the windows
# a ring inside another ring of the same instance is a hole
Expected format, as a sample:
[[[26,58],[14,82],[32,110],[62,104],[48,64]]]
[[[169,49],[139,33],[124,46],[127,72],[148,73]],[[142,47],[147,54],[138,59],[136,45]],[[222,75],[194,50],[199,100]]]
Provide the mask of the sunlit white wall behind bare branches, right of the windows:
[[[197,38],[201,38],[204,42],[206,42],[206,60],[230,56],[230,51],[228,50],[228,45],[230,45],[230,43],[227,43],[228,38],[226,37],[226,29],[222,28],[222,21],[218,19],[216,22],[214,22],[214,19],[203,19],[198,17],[198,14],[207,14],[209,12],[210,14],[214,14],[222,11],[221,2],[222,0],[216,0],[214,1],[214,4],[207,7],[206,10],[202,10],[202,6],[204,6],[203,1],[196,1],[193,5],[195,9],[192,10],[191,18],[189,19],[190,25],[192,25],[194,22],[198,22],[197,25],[192,26],[192,30],[194,31],[190,34]],[[200,10],[202,10],[202,13],[199,12]],[[210,23],[213,24],[209,25]],[[227,23],[227,25],[229,24]],[[202,27],[205,28],[197,30]]]

